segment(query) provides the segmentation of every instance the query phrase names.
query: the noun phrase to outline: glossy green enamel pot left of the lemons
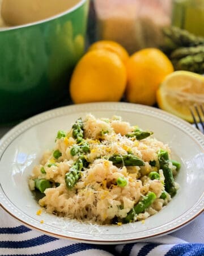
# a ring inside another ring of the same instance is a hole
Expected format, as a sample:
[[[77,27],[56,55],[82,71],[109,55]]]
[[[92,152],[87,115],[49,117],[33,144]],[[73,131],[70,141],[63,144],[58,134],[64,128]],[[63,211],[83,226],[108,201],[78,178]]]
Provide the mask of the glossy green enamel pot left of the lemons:
[[[0,30],[0,124],[18,121],[69,98],[82,57],[88,0],[52,18]]]

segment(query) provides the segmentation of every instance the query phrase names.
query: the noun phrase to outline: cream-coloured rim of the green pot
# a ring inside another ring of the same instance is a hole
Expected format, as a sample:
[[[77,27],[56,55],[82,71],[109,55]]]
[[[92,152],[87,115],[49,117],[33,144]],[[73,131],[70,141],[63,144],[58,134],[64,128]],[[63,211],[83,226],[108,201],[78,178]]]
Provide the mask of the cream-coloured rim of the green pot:
[[[49,18],[46,18],[46,19],[37,20],[36,22],[29,22],[29,23],[22,24],[22,25],[19,25],[19,26],[0,27],[0,32],[10,31],[10,30],[17,30],[18,28],[31,27],[31,26],[35,26],[35,25],[38,25],[38,24],[41,24],[41,23],[49,22],[51,20],[57,19],[57,18],[59,18],[61,16],[64,16],[66,14],[72,13],[73,11],[75,11],[80,6],[82,6],[85,2],[88,2],[88,1],[89,0],[79,0],[78,3],[76,3],[73,7],[67,9],[66,11],[63,11],[62,13],[58,13],[56,15],[50,16]]]

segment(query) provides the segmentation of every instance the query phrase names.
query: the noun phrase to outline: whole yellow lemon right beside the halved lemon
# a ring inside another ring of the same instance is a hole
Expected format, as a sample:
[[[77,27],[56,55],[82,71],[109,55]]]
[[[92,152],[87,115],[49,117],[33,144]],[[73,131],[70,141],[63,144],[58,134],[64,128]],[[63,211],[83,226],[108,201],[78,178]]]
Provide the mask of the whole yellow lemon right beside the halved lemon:
[[[159,49],[146,48],[130,56],[126,69],[127,100],[151,106],[156,103],[156,90],[160,83],[173,72],[173,65]]]

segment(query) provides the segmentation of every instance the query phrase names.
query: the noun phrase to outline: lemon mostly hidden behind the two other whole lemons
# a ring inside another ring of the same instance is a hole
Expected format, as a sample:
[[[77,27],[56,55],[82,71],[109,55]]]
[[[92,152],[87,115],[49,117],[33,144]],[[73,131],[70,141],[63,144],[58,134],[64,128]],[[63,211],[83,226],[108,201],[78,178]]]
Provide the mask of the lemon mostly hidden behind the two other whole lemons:
[[[111,40],[100,40],[96,43],[93,43],[88,51],[93,51],[95,49],[107,49],[108,51],[114,52],[120,57],[123,63],[129,59],[129,54],[124,47],[122,47],[117,42]]]

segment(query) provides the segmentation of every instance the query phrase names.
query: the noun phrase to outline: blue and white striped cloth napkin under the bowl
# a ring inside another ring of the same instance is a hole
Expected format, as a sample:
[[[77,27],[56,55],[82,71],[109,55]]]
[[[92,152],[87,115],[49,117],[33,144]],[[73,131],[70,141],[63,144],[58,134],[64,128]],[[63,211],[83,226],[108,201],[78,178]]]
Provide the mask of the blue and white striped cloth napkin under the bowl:
[[[31,230],[0,208],[2,256],[203,256],[204,213],[188,226],[147,242],[126,245],[90,245],[62,240]]]

